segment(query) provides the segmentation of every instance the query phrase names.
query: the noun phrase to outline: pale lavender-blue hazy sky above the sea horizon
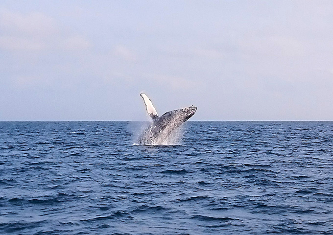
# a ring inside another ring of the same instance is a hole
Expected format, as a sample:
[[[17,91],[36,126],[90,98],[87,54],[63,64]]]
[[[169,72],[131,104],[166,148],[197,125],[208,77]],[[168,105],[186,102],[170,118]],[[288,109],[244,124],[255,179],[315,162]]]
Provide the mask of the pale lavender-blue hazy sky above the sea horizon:
[[[331,0],[1,0],[0,121],[333,120]]]

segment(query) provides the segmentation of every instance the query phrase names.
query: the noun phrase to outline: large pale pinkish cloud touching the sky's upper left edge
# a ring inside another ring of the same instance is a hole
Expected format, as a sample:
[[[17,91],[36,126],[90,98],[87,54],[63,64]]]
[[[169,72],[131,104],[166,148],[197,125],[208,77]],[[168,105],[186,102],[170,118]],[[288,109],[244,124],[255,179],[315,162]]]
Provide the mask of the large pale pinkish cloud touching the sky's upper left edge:
[[[6,51],[83,50],[92,46],[82,35],[59,28],[55,20],[40,13],[22,14],[0,9],[0,49]]]

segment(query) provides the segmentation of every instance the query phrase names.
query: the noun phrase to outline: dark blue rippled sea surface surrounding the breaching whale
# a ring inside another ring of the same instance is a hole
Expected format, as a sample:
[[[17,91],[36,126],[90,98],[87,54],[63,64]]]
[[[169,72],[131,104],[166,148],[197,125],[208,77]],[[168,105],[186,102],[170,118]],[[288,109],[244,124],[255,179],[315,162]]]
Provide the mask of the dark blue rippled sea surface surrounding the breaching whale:
[[[0,122],[0,234],[333,234],[333,122]]]

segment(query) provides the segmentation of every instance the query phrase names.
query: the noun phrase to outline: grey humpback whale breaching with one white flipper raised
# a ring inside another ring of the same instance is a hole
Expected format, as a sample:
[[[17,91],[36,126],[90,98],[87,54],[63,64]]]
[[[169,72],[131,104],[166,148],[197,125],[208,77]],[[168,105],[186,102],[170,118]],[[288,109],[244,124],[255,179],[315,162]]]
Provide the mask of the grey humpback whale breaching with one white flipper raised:
[[[152,118],[152,122],[139,137],[138,144],[150,145],[163,143],[177,127],[192,117],[196,111],[196,107],[191,105],[188,108],[166,112],[159,117],[148,96],[144,93],[140,95],[143,98],[147,113]]]

